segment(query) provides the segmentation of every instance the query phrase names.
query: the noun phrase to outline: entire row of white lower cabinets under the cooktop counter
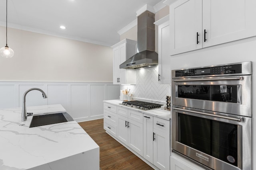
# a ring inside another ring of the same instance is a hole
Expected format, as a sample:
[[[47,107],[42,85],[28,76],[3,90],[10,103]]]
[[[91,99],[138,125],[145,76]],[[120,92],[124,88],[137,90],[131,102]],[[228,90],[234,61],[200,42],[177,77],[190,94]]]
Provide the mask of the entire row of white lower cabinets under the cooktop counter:
[[[170,170],[170,121],[134,109],[104,106],[104,129],[110,135],[155,169]]]

